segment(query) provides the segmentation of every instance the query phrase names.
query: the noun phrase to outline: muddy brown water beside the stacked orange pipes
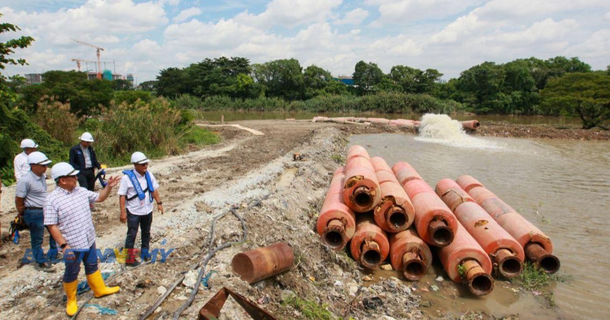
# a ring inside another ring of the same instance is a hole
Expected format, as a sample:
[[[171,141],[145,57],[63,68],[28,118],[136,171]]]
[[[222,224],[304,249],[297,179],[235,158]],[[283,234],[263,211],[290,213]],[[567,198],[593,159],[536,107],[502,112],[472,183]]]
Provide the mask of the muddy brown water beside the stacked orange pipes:
[[[498,318],[610,318],[609,142],[384,133],[354,135],[352,144],[365,146],[371,157],[381,156],[390,166],[411,163],[432,188],[442,178],[474,176],[551,238],[561,260],[558,274],[570,277],[542,290],[554,293],[556,307],[550,308],[543,294],[514,292],[503,280],[485,297],[472,296],[447,276],[437,282],[444,272],[434,261],[428,274],[413,283],[431,302],[426,314],[436,316],[438,310],[443,315],[484,311]],[[396,271],[381,269],[374,276],[399,277]],[[425,292],[431,285],[440,290]]]

